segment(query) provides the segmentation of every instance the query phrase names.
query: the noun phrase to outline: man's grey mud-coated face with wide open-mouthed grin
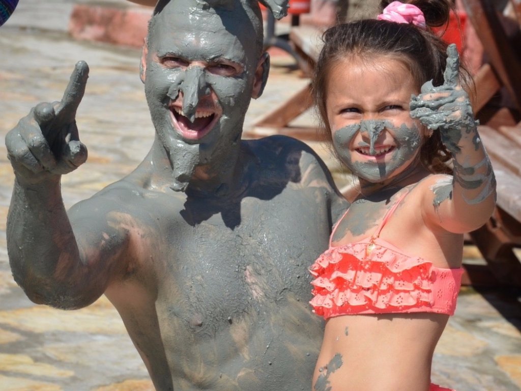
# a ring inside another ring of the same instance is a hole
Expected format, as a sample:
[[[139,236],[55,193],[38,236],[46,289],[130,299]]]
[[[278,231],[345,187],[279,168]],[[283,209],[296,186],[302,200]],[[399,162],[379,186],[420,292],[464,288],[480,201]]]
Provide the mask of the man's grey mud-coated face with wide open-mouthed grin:
[[[227,148],[240,138],[257,82],[258,49],[243,9],[173,0],[154,17],[142,80],[164,144]]]

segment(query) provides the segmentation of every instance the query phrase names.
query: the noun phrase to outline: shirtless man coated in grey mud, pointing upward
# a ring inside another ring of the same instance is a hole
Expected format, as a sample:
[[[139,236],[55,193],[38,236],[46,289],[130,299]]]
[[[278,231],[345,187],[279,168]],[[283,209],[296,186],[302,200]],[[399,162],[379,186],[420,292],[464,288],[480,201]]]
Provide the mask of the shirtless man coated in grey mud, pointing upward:
[[[157,390],[311,384],[322,324],[307,267],[347,205],[303,143],[241,140],[268,69],[256,2],[160,1],[141,63],[156,135],[134,172],[66,212],[60,177],[86,159],[83,62],[6,137],[17,283],[63,309],[105,294]]]

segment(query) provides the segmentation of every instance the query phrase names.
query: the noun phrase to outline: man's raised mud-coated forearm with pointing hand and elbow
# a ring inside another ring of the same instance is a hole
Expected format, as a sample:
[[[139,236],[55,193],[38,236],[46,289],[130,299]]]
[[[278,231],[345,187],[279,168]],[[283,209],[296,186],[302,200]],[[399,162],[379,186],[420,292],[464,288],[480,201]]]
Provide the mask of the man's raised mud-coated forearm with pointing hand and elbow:
[[[15,185],[7,217],[7,249],[16,282],[36,303],[86,306],[103,294],[110,261],[80,248],[60,193],[61,175],[86,160],[76,111],[88,66],[77,64],[61,102],[41,103],[6,136]],[[92,243],[94,248],[97,243]]]

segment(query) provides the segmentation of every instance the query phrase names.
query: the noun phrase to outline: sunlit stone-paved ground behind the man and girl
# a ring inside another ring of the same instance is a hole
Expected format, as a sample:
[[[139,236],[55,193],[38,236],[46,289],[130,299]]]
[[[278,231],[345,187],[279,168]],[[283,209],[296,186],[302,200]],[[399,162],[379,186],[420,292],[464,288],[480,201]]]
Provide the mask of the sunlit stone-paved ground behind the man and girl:
[[[20,0],[0,28],[0,133],[41,101],[59,100],[77,60],[91,68],[77,121],[89,160],[64,177],[68,206],[135,167],[153,128],[138,77],[139,50],[72,40],[72,0]],[[89,3],[89,1],[83,1]],[[98,2],[97,4],[100,4]],[[110,3],[118,3],[112,0]],[[128,4],[119,1],[121,7]],[[306,80],[291,58],[274,53],[265,94],[246,119],[276,107]],[[307,114],[300,121],[312,121]],[[334,171],[324,148],[312,144]],[[341,186],[345,180],[336,175]],[[0,145],[0,391],[149,391],[152,384],[117,312],[104,298],[78,311],[36,306],[9,270],[5,221],[13,182]],[[469,249],[468,262],[481,262]],[[518,293],[518,292],[517,292]],[[462,290],[455,316],[437,347],[433,381],[458,391],[521,389],[521,306],[513,291]]]

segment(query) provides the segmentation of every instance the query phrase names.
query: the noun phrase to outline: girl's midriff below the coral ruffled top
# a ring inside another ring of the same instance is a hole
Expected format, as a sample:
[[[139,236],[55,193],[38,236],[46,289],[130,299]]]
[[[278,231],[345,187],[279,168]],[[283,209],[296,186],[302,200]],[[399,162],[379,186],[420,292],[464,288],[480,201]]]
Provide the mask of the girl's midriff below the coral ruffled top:
[[[332,317],[313,384],[324,374],[333,390],[427,391],[432,354],[448,319],[433,313]],[[328,371],[334,357],[341,358],[342,370]]]

